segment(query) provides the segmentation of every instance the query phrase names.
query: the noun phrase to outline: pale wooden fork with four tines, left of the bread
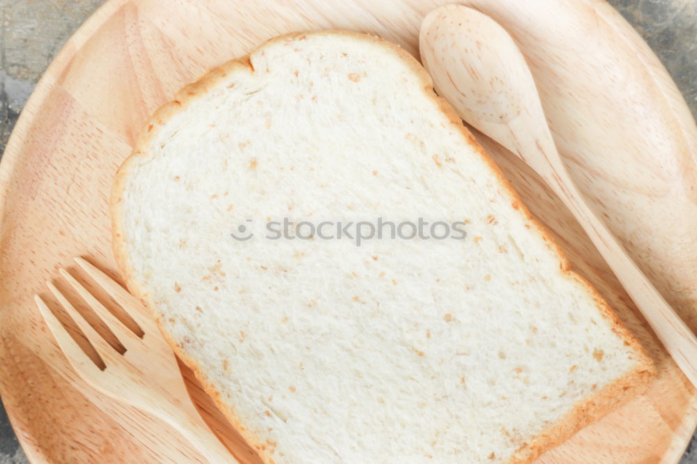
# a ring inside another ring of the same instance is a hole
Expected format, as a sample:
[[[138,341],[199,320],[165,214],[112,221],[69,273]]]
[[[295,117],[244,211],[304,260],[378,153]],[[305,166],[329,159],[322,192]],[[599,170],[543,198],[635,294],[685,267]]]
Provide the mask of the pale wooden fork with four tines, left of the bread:
[[[147,310],[128,291],[82,258],[75,262],[123,308],[139,325],[142,336],[130,330],[109,309],[97,300],[68,271],[60,269],[61,276],[97,314],[121,342],[125,353],[119,353],[97,332],[61,291],[50,281],[49,290],[68,312],[77,327],[102,358],[100,368],[70,337],[63,324],[46,303],[35,296],[36,304],[61,350],[72,367],[86,382],[114,399],[130,403],[174,426],[211,463],[236,463],[235,458],[210,431],[194,407],[177,366],[174,352],[164,341],[155,321]]]

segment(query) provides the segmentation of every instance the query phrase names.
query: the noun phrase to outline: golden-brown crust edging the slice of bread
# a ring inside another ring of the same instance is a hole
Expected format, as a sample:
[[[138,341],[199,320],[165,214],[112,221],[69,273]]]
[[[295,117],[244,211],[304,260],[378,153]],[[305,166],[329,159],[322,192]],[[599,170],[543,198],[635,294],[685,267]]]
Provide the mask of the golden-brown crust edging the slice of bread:
[[[137,167],[137,162],[141,158],[146,158],[148,155],[148,144],[150,144],[155,134],[161,130],[164,122],[169,120],[169,118],[178,114],[180,111],[184,111],[191,102],[200,98],[201,95],[205,95],[208,89],[213,88],[222,79],[229,77],[233,72],[254,72],[252,66],[252,56],[256,53],[261,52],[265,47],[268,47],[275,42],[288,41],[288,40],[298,40],[304,38],[305,36],[330,36],[330,35],[343,35],[353,38],[354,40],[368,40],[368,41],[378,41],[385,47],[385,52],[391,52],[396,54],[402,61],[405,61],[410,66],[411,70],[420,79],[423,85],[424,93],[427,93],[431,98],[433,98],[437,103],[438,107],[443,111],[443,113],[450,119],[452,123],[461,132],[463,137],[466,139],[468,144],[477,150],[477,153],[482,157],[482,160],[487,163],[491,171],[495,173],[500,187],[503,187],[503,194],[507,194],[509,199],[514,206],[514,209],[519,211],[526,220],[526,224],[530,228],[535,229],[537,233],[543,238],[547,247],[551,249],[552,252],[558,257],[560,271],[562,275],[572,281],[576,281],[586,292],[592,295],[593,300],[597,304],[597,307],[606,320],[611,324],[612,331],[620,337],[625,343],[625,345],[631,347],[634,351],[636,362],[634,370],[627,373],[627,375],[616,380],[610,385],[606,385],[602,389],[599,389],[597,393],[592,396],[579,401],[574,405],[571,411],[562,417],[560,421],[552,426],[546,428],[542,433],[537,435],[535,438],[521,444],[519,449],[510,457],[508,464],[523,464],[531,463],[535,461],[537,457],[543,454],[545,451],[558,446],[562,442],[571,438],[576,432],[581,430],[581,428],[597,422],[597,420],[604,417],[611,410],[618,408],[620,405],[627,403],[636,394],[641,393],[641,391],[648,386],[648,383],[655,375],[655,367],[651,358],[645,353],[645,350],[641,344],[631,335],[627,328],[620,322],[618,317],[608,306],[602,296],[593,288],[590,283],[576,274],[571,270],[567,258],[562,253],[560,247],[553,240],[551,234],[544,229],[544,226],[537,222],[537,219],[530,214],[528,208],[523,204],[517,192],[513,189],[510,182],[503,175],[503,171],[500,170],[498,165],[489,157],[489,155],[484,151],[482,146],[477,143],[476,139],[470,133],[470,131],[462,124],[461,119],[457,116],[453,107],[445,99],[436,95],[433,89],[433,84],[431,77],[427,71],[422,67],[422,65],[413,57],[408,54],[404,49],[399,47],[392,42],[388,42],[382,38],[376,38],[374,36],[369,36],[365,33],[358,33],[353,31],[342,31],[342,30],[332,30],[332,31],[322,31],[314,33],[288,33],[283,36],[278,36],[272,38],[263,44],[259,45],[254,49],[249,55],[243,56],[238,59],[233,59],[220,65],[220,67],[210,70],[204,77],[201,77],[197,82],[188,84],[181,89],[176,95],[174,100],[163,105],[158,110],[156,110],[151,118],[149,118],[148,123],[146,123],[144,129],[141,131],[139,138],[135,144],[132,154],[128,157],[121,167],[119,167],[116,178],[114,180],[114,187],[112,188],[112,195],[110,199],[110,208],[112,213],[112,244],[114,247],[114,256],[116,258],[116,263],[118,268],[121,270],[123,279],[125,280],[128,290],[138,297],[148,309],[150,309],[153,316],[158,320],[158,325],[160,330],[167,339],[167,342],[171,345],[172,349],[182,359],[182,361],[194,371],[195,375],[203,385],[206,392],[213,398],[217,407],[223,412],[227,417],[229,422],[234,428],[240,433],[240,435],[247,441],[250,447],[254,448],[259,454],[260,458],[264,463],[273,464],[273,448],[270,449],[263,442],[263,439],[256,436],[250,430],[245,427],[245,424],[238,419],[238,415],[233,410],[232,406],[225,403],[221,399],[221,394],[206,378],[206,374],[201,369],[201,366],[192,359],[185,350],[183,346],[180,346],[171,335],[167,333],[162,324],[162,320],[158,314],[157,308],[154,302],[151,300],[150,296],[144,288],[136,281],[133,277],[132,265],[126,252],[126,244],[123,235],[123,192],[125,190],[125,185],[128,180],[128,176],[134,167]]]

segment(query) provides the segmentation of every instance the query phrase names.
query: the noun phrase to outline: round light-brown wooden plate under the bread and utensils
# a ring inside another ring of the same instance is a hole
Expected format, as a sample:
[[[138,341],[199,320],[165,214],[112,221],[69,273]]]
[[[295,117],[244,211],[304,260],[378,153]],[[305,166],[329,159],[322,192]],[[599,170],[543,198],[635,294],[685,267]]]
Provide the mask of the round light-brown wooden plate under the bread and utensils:
[[[72,256],[114,270],[107,198],[148,114],[208,68],[279,33],[353,29],[417,54],[420,21],[440,3],[111,0],[75,33],[26,104],[0,164],[0,393],[31,461],[199,460],[171,428],[77,378],[31,300]],[[469,3],[519,41],[574,177],[694,329],[697,130],[665,70],[601,1]],[[646,394],[540,462],[676,462],[697,422],[694,389],[569,212],[510,153],[484,143],[659,366]],[[253,462],[184,371],[215,429]]]

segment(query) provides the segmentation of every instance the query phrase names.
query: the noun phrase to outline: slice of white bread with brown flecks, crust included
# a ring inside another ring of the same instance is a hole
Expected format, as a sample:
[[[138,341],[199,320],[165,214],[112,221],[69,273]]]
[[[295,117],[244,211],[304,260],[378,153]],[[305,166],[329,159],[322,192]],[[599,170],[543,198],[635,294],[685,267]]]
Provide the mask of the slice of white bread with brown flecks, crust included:
[[[267,463],[529,462],[652,376],[384,40],[282,36],[185,87],[119,170],[112,214],[130,290]],[[266,238],[284,217],[466,237]]]

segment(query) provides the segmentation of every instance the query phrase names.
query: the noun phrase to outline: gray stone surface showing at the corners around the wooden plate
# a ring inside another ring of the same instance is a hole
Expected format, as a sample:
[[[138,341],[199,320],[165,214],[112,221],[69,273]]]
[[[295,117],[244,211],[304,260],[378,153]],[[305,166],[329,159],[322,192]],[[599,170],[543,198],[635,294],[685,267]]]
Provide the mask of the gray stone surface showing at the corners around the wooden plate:
[[[102,0],[0,0],[0,153],[56,52]],[[697,114],[697,0],[610,0],[671,72]],[[0,464],[24,464],[0,403]],[[697,438],[680,464],[697,464]]]

